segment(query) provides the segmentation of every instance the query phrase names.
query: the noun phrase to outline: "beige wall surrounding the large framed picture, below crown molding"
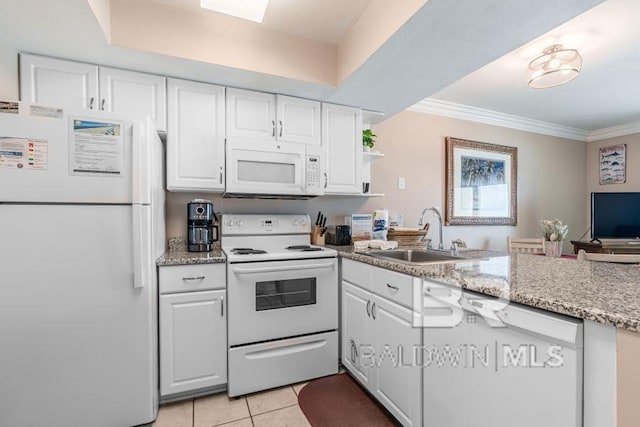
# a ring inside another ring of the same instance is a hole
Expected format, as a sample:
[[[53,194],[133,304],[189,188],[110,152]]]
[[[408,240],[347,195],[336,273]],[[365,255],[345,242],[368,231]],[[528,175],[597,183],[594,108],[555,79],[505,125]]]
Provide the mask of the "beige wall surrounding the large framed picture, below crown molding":
[[[444,138],[454,136],[518,147],[518,225],[444,227],[449,245],[462,238],[471,247],[505,250],[508,235],[538,236],[543,218],[565,221],[570,239],[585,231],[584,142],[409,111],[375,126],[374,132],[376,149],[386,156],[373,164],[372,185],[386,196],[369,200],[364,210],[400,211],[405,225],[415,226],[425,207],[443,208]],[[398,176],[406,178],[406,190],[398,190]],[[431,215],[427,219],[429,237],[437,239],[437,221]],[[564,250],[572,251],[568,242]]]

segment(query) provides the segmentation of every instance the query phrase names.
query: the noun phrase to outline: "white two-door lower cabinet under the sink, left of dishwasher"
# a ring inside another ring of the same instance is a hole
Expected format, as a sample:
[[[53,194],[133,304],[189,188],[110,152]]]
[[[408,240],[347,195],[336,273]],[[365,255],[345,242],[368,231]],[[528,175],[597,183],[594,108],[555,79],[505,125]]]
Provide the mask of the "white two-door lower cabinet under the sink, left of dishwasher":
[[[411,309],[372,292],[371,278],[385,270],[369,266],[363,277],[362,265],[343,260],[343,277],[360,282],[342,281],[342,364],[402,425],[420,426],[422,375],[413,359],[422,330],[413,326]],[[414,285],[414,278],[399,276]]]

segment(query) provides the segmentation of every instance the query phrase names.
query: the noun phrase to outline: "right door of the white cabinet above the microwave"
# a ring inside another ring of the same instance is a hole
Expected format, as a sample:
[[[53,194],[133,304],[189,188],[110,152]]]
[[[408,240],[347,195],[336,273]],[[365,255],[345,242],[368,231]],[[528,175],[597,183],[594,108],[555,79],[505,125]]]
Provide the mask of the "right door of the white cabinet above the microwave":
[[[278,95],[277,139],[320,145],[320,102]]]

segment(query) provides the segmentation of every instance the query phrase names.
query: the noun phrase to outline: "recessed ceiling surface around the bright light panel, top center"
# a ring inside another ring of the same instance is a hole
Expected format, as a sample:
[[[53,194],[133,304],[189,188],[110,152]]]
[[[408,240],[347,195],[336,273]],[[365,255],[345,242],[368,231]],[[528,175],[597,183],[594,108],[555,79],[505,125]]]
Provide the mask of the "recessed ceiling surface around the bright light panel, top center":
[[[200,0],[151,0],[200,14]],[[263,28],[329,44],[337,44],[372,0],[269,0]]]

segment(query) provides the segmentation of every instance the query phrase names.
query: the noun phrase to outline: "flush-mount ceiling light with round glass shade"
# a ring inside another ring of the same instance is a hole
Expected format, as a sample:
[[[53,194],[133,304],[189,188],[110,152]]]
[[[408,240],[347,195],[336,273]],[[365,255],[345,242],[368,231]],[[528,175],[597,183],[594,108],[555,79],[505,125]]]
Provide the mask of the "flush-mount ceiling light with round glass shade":
[[[577,50],[554,44],[529,63],[527,83],[534,89],[560,86],[578,77],[581,69],[582,56]]]

